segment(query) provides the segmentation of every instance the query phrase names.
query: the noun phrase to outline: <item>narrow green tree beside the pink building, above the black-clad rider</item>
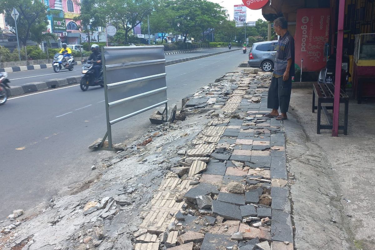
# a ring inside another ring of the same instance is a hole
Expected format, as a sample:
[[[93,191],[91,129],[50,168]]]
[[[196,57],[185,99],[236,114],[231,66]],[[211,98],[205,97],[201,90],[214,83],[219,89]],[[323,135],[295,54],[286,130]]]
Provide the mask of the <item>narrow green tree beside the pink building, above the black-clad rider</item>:
[[[78,3],[81,7],[81,14],[74,18],[75,21],[81,21],[80,28],[89,38],[90,34],[96,31],[97,27],[107,26],[107,12],[102,1],[82,0]]]

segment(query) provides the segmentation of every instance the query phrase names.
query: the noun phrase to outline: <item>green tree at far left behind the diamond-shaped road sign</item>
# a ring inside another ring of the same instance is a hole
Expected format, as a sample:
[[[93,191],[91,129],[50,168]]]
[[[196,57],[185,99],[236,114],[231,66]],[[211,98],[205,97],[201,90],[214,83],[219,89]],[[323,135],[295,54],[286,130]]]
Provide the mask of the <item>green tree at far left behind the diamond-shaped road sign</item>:
[[[25,57],[27,58],[26,43],[30,38],[31,30],[36,29],[37,32],[47,30],[48,6],[44,4],[44,1],[1,0],[0,11],[5,13],[5,21],[12,28],[12,33],[15,34],[15,21],[10,15],[13,7],[20,13],[17,19],[18,38],[25,47]]]

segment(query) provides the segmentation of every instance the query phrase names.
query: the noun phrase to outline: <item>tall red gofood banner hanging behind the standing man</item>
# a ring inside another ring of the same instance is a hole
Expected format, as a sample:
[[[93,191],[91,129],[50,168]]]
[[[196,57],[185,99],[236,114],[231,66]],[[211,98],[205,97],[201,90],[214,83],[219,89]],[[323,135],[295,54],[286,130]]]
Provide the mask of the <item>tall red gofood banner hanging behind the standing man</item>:
[[[299,9],[296,24],[296,64],[303,71],[318,71],[326,66],[324,45],[329,41],[330,9]]]

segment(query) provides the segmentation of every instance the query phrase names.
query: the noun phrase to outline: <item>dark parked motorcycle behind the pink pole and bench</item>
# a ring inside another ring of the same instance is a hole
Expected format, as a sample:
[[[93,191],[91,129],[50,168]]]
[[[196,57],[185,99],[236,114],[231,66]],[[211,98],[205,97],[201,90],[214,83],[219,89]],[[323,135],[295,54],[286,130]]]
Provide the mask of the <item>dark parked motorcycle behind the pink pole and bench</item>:
[[[340,86],[344,91],[348,83],[348,79],[351,76],[348,71],[349,62],[350,62],[349,56],[345,53],[342,54]],[[330,55],[330,57],[327,59],[326,68],[320,71],[318,82],[335,84],[335,75],[336,75],[336,54],[333,54],[333,55]]]

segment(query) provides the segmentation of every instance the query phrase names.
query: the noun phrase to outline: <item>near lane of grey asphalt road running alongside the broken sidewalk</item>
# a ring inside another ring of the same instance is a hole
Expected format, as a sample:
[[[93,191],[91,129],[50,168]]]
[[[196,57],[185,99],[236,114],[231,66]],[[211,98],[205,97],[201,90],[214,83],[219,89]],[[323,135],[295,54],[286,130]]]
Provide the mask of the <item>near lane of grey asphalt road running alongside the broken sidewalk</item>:
[[[170,103],[236,69],[248,55],[235,51],[166,67]],[[114,143],[131,140],[151,126],[144,112],[113,126]],[[92,174],[98,157],[113,154],[87,146],[106,132],[101,87],[78,85],[14,97],[0,107],[0,220],[28,210]],[[126,139],[129,136],[129,139]]]

